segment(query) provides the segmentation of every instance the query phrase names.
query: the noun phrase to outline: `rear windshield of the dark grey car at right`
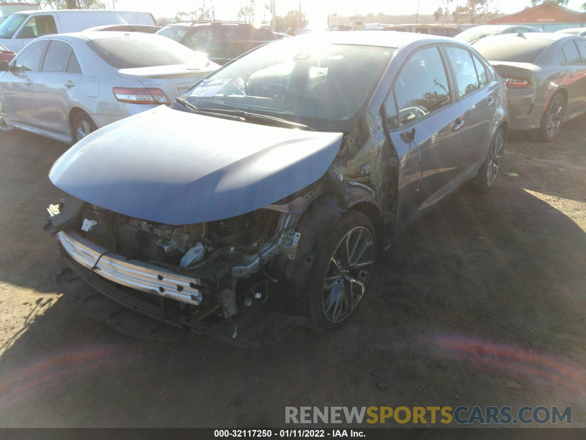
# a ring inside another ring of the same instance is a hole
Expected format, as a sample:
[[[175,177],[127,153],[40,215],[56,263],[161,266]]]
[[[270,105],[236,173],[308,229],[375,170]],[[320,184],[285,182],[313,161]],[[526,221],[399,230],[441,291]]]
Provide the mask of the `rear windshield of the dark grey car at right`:
[[[483,38],[474,43],[474,49],[478,50],[489,61],[505,61],[533,64],[552,40],[527,38],[517,36],[495,36],[495,38]]]

